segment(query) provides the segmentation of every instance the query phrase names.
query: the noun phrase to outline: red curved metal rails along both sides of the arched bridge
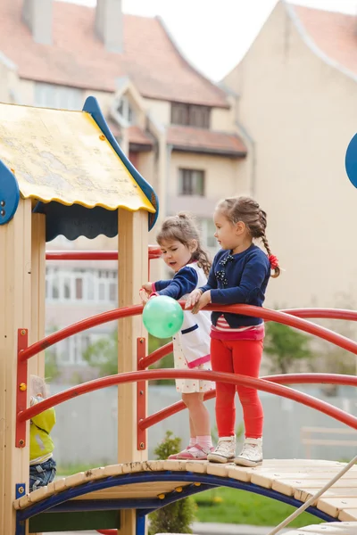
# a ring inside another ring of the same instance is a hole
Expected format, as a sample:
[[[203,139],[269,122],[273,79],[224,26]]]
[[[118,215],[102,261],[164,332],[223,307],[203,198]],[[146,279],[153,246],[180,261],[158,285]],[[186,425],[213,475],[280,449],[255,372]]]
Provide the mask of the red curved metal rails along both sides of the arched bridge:
[[[184,302],[180,302],[181,306],[184,306]],[[217,310],[217,307],[214,305],[210,305],[206,309],[211,310]],[[21,350],[19,352],[18,357],[18,366],[23,365],[27,362],[29,358],[36,355],[41,350],[45,350],[47,347],[50,347],[56,342],[60,342],[61,340],[71,336],[72,334],[79,333],[81,331],[86,330],[87,328],[90,328],[95,325],[101,325],[106,322],[110,322],[115,319],[119,319],[120,317],[129,317],[129,316],[137,316],[138,314],[141,314],[143,310],[142,305],[134,305],[132,307],[127,307],[123,309],[114,309],[109,312],[104,312],[103,314],[99,314],[94,317],[89,317],[85,320],[82,320],[78,322],[77,324],[70,325],[69,327],[65,327],[61,331],[58,331],[57,333],[50,334],[47,336],[44,340],[36,342],[29,348],[25,350]],[[336,318],[336,319],[351,319],[355,321],[357,319],[357,313],[353,312],[351,310],[334,310],[334,309],[291,309],[287,311],[275,311],[270,309],[262,309],[258,307],[253,307],[250,305],[231,305],[231,306],[224,306],[220,307],[218,309],[220,311],[229,311],[239,314],[244,314],[247,316],[253,316],[253,317],[262,317],[266,321],[277,321],[278,323],[282,323],[285,325],[289,325],[298,329],[301,329],[307,333],[315,334],[317,336],[320,336],[320,338],[323,338],[327,340],[328,342],[335,343],[337,346],[344,348],[345,350],[352,351],[354,354],[357,354],[357,343],[353,342],[352,340],[349,340],[348,338],[345,338],[345,336],[341,336],[340,334],[333,333],[332,331],[321,327],[320,325],[311,324],[310,322],[300,318],[299,316],[304,317],[328,317],[328,318]],[[164,355],[168,354],[172,350],[172,344],[166,344],[166,346],[163,346],[159,350],[154,351],[151,355],[149,355],[146,358],[139,358],[138,360],[138,367],[140,369],[145,368],[146,366],[149,366],[150,364],[153,364],[158,359],[162,358]],[[19,368],[20,369],[20,368]],[[149,376],[145,374],[149,374]],[[308,405],[309,407],[317,408],[318,410],[321,410],[322,412],[325,412],[326,414],[336,417],[336,419],[340,420],[341,422],[344,422],[346,424],[354,425],[353,416],[347,415],[344,413],[344,411],[339,411],[339,409],[336,409],[336,407],[331,407],[328,404],[324,404],[322,401],[318,399],[313,399],[310,396],[307,396],[307,394],[303,394],[302,392],[296,392],[291,391],[291,389],[287,389],[286,387],[282,387],[279,384],[269,385],[267,387],[268,382],[272,382],[273,378],[267,378],[265,381],[262,379],[253,379],[250,377],[238,377],[238,376],[229,376],[227,374],[213,374],[213,372],[197,372],[195,370],[150,370],[147,372],[130,372],[129,374],[120,374],[120,375],[112,375],[110,377],[106,377],[100,380],[96,380],[95,382],[86,383],[84,385],[79,385],[79,387],[74,387],[73,389],[70,389],[67,392],[62,392],[61,394],[56,394],[56,396],[52,396],[46,401],[43,401],[41,403],[40,410],[46,409],[46,404],[48,404],[48,407],[53,407],[54,405],[61,403],[62,400],[70,399],[73,396],[77,396],[80,393],[85,393],[86,391],[92,391],[97,390],[98,388],[104,388],[105,386],[109,386],[110,384],[120,384],[120,383],[128,383],[128,382],[135,382],[135,381],[148,381],[148,380],[154,380],[154,379],[160,379],[160,378],[181,378],[181,377],[187,377],[191,376],[190,374],[194,374],[194,377],[198,377],[195,374],[200,374],[199,378],[207,378],[209,380],[219,380],[227,383],[234,383],[234,384],[245,384],[245,385],[251,385],[253,388],[257,388],[257,390],[262,391],[270,391],[271,393],[276,393],[278,395],[281,395],[283,397],[287,397],[289,399],[295,399],[301,403],[304,403]],[[144,374],[144,375],[143,375]],[[208,374],[207,377],[203,377],[202,374]],[[334,383],[339,384],[352,384],[356,385],[355,379],[351,378],[351,376],[340,376],[341,378],[336,379],[335,376],[331,376],[328,374],[295,374],[292,375],[290,378],[290,383],[303,383],[306,381],[307,383],[320,383],[321,381],[325,380],[332,380]],[[249,382],[261,382],[261,383],[249,383]],[[275,383],[289,383],[288,377],[286,375],[282,376],[275,376]],[[87,389],[87,390],[86,390]],[[278,389],[278,390],[277,390]],[[280,389],[280,390],[279,390]],[[283,389],[283,390],[281,390]],[[208,392],[205,396],[205,399],[211,399],[215,395],[215,392]],[[64,396],[64,397],[63,397]],[[154,425],[155,423],[161,421],[163,418],[170,416],[172,414],[175,414],[179,412],[183,408],[182,402],[176,403],[170,407],[166,407],[165,409],[162,409],[158,413],[152,416],[148,416],[145,419],[141,419],[141,422],[138,424],[138,429],[140,431],[145,430],[147,427]],[[18,414],[18,420],[17,424],[22,424],[26,420],[30,419],[31,417],[38,414],[36,410],[39,412],[38,407],[31,407],[27,408],[24,411],[20,411]],[[336,412],[337,411],[337,412]],[[339,411],[339,412],[338,412]],[[356,420],[357,421],[357,420]]]

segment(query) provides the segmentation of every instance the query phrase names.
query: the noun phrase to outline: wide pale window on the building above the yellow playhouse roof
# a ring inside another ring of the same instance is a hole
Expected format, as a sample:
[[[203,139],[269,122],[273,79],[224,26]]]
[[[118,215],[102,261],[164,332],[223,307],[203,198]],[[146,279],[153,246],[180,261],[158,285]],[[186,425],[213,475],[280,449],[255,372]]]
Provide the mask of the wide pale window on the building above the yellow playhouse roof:
[[[83,100],[82,90],[76,87],[35,83],[35,106],[60,110],[81,110]]]

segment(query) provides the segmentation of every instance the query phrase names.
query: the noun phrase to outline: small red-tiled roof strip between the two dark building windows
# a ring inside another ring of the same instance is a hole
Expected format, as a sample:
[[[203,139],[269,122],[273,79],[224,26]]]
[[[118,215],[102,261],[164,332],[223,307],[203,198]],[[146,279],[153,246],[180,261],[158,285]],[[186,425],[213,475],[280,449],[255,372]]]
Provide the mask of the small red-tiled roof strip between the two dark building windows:
[[[246,147],[235,134],[204,128],[171,126],[167,129],[167,143],[185,152],[205,152],[226,156],[245,156]]]

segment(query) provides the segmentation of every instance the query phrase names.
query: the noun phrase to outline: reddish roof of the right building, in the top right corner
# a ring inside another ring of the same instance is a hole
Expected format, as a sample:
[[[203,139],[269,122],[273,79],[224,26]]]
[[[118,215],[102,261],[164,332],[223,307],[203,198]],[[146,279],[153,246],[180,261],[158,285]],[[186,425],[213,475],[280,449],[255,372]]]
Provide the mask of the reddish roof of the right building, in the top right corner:
[[[357,18],[302,5],[292,6],[313,43],[329,59],[357,74]]]

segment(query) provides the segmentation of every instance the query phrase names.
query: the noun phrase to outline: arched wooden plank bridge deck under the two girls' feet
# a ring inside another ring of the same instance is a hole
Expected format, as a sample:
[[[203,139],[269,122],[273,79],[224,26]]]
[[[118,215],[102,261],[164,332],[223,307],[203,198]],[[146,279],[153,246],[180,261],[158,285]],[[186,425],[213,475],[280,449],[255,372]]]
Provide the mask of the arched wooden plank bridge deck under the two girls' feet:
[[[264,489],[276,490],[279,493],[294,497],[305,502],[308,498],[324,486],[339,472],[345,463],[320,460],[265,460],[257,468],[244,468],[234,464],[219,465],[195,461],[146,461],[144,463],[127,463],[94,468],[87,472],[76,473],[69,477],[50,483],[47,487],[35,490],[14,502],[15,509],[26,509],[46,498],[57,495],[64,490],[78,487],[88,481],[104,480],[110,476],[120,476],[128,473],[162,472],[162,481],[123,484],[96,492],[83,492],[76,499],[120,499],[120,498],[165,498],[176,490],[180,492],[187,481],[180,481],[179,473],[211,474],[222,478],[222,486],[228,478],[259,485]],[[163,472],[175,472],[175,481],[165,481]],[[199,485],[199,483],[197,483]],[[336,481],[326,494],[313,504],[320,511],[338,519],[341,522],[357,521],[357,465]],[[341,525],[341,524],[340,524]],[[308,528],[306,528],[308,529]],[[294,532],[294,531],[293,531]],[[309,531],[307,531],[309,532]],[[313,532],[313,531],[312,531]],[[329,531],[323,531],[329,533]],[[299,531],[297,531],[299,533]],[[303,533],[303,531],[302,531]],[[342,535],[338,533],[338,535]],[[345,535],[345,533],[344,533]],[[353,535],[352,533],[350,535]],[[356,531],[357,535],[357,531]]]

